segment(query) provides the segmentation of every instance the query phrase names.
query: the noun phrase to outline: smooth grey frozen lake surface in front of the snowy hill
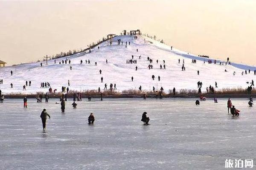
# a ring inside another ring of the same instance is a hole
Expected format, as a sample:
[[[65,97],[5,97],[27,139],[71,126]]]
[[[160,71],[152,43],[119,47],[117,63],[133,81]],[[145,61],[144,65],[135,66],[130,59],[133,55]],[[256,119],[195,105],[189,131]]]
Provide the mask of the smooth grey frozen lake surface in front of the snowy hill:
[[[227,114],[227,99],[200,106],[195,99],[85,100],[77,109],[66,102],[61,114],[57,99],[28,99],[26,109],[23,99],[6,99],[0,104],[0,169],[221,170],[226,159],[256,161],[256,113],[248,99],[232,99],[241,110],[237,119]],[[47,132],[43,108],[51,116]],[[151,125],[140,121],[144,111]],[[97,121],[89,126],[91,112]]]

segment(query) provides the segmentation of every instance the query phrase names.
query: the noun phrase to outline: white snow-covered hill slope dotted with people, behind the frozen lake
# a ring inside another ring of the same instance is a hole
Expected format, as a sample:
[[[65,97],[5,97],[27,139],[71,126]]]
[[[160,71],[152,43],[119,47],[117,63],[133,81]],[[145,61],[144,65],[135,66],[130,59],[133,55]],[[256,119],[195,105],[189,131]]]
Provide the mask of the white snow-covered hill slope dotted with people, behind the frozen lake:
[[[144,38],[146,43],[144,43]],[[117,39],[121,39],[123,45],[117,45]],[[131,45],[127,45],[125,48],[125,41],[131,42]],[[150,43],[150,42],[153,43]],[[41,82],[49,82],[52,89],[61,91],[62,86],[67,87],[68,79],[70,80],[70,90],[83,91],[87,89],[101,89],[104,88],[104,84],[116,83],[118,91],[137,89],[142,86],[143,90],[152,90],[154,86],[160,89],[163,86],[167,92],[173,87],[176,90],[179,89],[197,89],[197,82],[203,82],[202,91],[209,85],[215,85],[215,81],[218,83],[218,88],[229,87],[247,87],[246,82],[251,82],[254,79],[253,71],[254,67],[232,63],[232,65],[219,65],[219,62],[215,64],[208,64],[207,58],[197,57],[192,54],[187,54],[184,51],[172,49],[168,45],[160,42],[148,39],[147,37],[138,36],[137,40],[131,36],[117,36],[113,39],[112,45],[109,42],[103,42],[99,45],[99,50],[92,49],[91,53],[88,51],[84,54],[76,54],[72,57],[67,57],[71,60],[72,70],[70,70],[69,64],[59,65],[58,62],[66,57],[54,59],[48,61],[48,65],[43,62],[43,67],[40,67],[40,62],[26,63],[22,65],[9,66],[0,68],[0,79],[3,79],[3,85],[0,85],[0,89],[3,94],[10,93],[23,93],[23,94],[35,94],[36,92],[46,92],[47,88],[40,88]],[[136,51],[138,49],[138,52]],[[131,59],[131,55],[134,55],[134,59],[137,59],[137,64],[126,64],[126,59]],[[141,59],[139,56],[141,55]],[[149,62],[147,57],[153,59],[153,69],[148,69]],[[83,64],[80,65],[80,60],[83,60]],[[90,64],[85,64],[85,60],[90,59]],[[105,63],[108,59],[108,64]],[[158,64],[156,60],[159,60]],[[178,64],[180,59],[180,64]],[[185,61],[186,71],[181,71],[183,59]],[[196,64],[192,64],[192,59],[197,59]],[[160,69],[160,64],[163,65],[163,60],[166,61],[166,70]],[[213,59],[214,60],[214,59]],[[97,62],[97,66],[95,66]],[[213,61],[212,61],[213,62]],[[135,71],[136,65],[138,71]],[[102,74],[99,74],[99,70],[102,70]],[[224,72],[227,69],[228,72]],[[242,69],[251,69],[251,73],[242,76]],[[13,71],[11,76],[10,71]],[[200,71],[200,75],[197,75],[197,71]],[[233,71],[236,71],[236,75],[233,76]],[[155,80],[151,79],[154,74]],[[131,82],[131,77],[134,77],[134,81]],[[160,81],[157,77],[160,76]],[[100,78],[103,77],[103,83]],[[23,91],[22,86],[25,82],[31,80],[32,86],[27,87],[26,91]],[[13,83],[13,88],[10,88],[10,83]]]

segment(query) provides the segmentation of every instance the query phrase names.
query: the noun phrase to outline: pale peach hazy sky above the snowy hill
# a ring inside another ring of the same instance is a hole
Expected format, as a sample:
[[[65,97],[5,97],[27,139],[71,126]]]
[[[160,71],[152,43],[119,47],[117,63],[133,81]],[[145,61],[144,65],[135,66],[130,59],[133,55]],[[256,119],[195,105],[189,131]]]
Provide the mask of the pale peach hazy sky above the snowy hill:
[[[0,60],[37,61],[140,29],[196,55],[256,65],[255,0],[0,1]]]

